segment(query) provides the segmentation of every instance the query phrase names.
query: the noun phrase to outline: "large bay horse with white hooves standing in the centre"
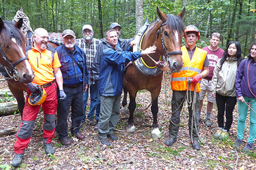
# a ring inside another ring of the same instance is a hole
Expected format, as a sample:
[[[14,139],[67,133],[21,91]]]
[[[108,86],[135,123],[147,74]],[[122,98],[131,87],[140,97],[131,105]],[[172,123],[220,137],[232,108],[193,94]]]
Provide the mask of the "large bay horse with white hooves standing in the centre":
[[[157,46],[155,54],[150,56],[154,61],[160,61],[160,56],[167,56],[167,63],[172,72],[180,71],[183,65],[181,43],[184,35],[184,23],[182,18],[185,14],[185,9],[177,16],[165,15],[157,8],[157,14],[160,20],[153,22],[149,25],[145,32],[144,38],[141,43],[141,49],[145,49],[149,46]],[[148,67],[155,67],[154,62],[149,56],[143,56],[143,61]],[[124,100],[122,105],[127,104],[127,92],[130,95],[130,103],[128,109],[130,111],[130,117],[128,119],[128,131],[134,131],[133,114],[136,108],[136,95],[138,90],[147,89],[151,93],[152,97],[152,137],[158,138],[160,131],[158,129],[158,95],[160,93],[162,83],[162,71],[158,75],[146,75],[137,69],[135,63],[132,63],[124,75]]]

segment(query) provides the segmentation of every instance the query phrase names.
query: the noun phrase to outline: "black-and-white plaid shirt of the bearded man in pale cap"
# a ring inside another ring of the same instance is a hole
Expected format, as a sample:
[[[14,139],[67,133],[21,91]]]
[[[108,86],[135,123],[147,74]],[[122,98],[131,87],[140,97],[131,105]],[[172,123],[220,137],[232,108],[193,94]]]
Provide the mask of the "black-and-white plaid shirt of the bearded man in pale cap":
[[[53,42],[54,44],[61,45],[63,44],[62,40],[57,37],[49,37],[49,41]],[[96,52],[98,50],[98,45],[100,44],[100,39],[93,38],[90,44],[87,44],[85,39],[76,39],[75,45],[81,48],[86,55],[86,63],[87,63],[87,69],[89,73],[89,82],[88,84],[95,84],[94,76],[92,73],[92,63],[94,62],[94,58],[96,55]]]

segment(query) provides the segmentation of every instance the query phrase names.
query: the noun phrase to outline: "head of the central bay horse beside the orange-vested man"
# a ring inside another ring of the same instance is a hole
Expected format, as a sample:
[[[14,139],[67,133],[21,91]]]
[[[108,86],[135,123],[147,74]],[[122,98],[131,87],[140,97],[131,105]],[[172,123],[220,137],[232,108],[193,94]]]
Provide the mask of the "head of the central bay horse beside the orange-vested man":
[[[182,69],[182,37],[184,36],[184,18],[185,8],[174,16],[164,14],[157,7],[157,14],[160,18],[156,26],[159,27],[156,44],[162,56],[167,56],[167,62],[171,72],[178,72]]]

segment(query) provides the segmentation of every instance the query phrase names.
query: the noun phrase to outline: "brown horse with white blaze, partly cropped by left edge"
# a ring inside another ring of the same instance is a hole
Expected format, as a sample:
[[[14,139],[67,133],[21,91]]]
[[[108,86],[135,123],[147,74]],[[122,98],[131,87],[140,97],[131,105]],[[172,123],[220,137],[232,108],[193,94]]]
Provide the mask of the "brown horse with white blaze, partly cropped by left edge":
[[[8,86],[17,99],[18,109],[23,113],[25,99],[24,84],[32,82],[33,71],[25,55],[26,38],[20,27],[23,19],[14,24],[12,21],[3,21],[0,18],[0,64],[1,73],[8,82]],[[3,72],[5,70],[5,72]]]

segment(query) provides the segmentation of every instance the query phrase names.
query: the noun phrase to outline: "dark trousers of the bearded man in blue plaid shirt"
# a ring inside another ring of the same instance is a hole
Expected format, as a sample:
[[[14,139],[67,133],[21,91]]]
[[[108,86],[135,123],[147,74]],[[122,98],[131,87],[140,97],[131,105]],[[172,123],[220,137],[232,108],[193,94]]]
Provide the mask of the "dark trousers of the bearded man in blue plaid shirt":
[[[83,118],[83,84],[77,87],[63,86],[63,90],[67,97],[63,101],[59,101],[57,107],[57,127],[59,139],[68,136],[68,114],[71,106],[71,128],[72,134],[79,133],[79,125]]]

